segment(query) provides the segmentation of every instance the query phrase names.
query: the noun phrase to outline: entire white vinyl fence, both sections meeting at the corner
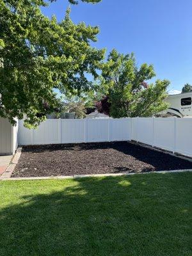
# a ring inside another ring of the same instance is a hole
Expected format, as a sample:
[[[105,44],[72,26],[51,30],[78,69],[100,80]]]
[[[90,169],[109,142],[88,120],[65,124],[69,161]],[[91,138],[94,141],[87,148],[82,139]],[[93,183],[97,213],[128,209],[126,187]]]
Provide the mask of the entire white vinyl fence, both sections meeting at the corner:
[[[19,121],[19,145],[131,140],[192,157],[192,118],[48,119],[31,130]]]

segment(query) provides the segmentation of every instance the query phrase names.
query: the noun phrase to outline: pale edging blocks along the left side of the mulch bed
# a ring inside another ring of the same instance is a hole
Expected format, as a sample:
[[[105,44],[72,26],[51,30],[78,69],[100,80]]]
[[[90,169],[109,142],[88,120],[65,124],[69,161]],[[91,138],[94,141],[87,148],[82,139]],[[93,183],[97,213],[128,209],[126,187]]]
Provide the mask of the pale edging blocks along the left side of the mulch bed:
[[[8,165],[6,170],[1,175],[0,180],[12,179],[11,176],[12,176],[12,173],[15,170],[15,167],[16,167],[18,161],[19,161],[21,151],[22,151],[22,147],[18,147],[17,150],[16,150],[16,153],[15,153],[15,156],[13,156],[12,161],[10,162],[10,164]]]

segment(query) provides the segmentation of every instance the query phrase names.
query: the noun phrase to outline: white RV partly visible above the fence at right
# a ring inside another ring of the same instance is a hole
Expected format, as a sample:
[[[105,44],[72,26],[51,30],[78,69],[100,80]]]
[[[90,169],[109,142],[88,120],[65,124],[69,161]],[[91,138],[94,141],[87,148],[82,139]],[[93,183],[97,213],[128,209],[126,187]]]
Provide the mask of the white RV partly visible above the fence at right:
[[[192,92],[168,95],[170,104],[163,116],[192,117]]]

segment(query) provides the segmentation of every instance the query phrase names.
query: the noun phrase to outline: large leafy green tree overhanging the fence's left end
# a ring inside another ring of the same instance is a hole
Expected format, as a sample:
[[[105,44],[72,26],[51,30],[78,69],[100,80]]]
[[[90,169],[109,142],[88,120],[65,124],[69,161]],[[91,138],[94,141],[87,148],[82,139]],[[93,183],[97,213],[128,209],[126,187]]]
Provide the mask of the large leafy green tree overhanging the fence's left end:
[[[58,107],[54,88],[89,90],[86,74],[97,77],[104,58],[103,49],[90,46],[99,28],[74,24],[70,10],[61,22],[50,20],[40,10],[46,5],[44,0],[0,0],[0,116],[12,123],[25,118],[28,127]]]

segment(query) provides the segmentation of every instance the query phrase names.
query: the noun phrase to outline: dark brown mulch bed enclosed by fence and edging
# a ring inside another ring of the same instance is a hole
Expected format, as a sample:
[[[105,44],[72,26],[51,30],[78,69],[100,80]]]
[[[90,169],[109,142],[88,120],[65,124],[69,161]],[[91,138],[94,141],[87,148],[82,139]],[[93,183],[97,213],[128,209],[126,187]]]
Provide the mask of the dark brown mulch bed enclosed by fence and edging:
[[[12,177],[150,172],[192,168],[192,163],[128,142],[30,146]]]

